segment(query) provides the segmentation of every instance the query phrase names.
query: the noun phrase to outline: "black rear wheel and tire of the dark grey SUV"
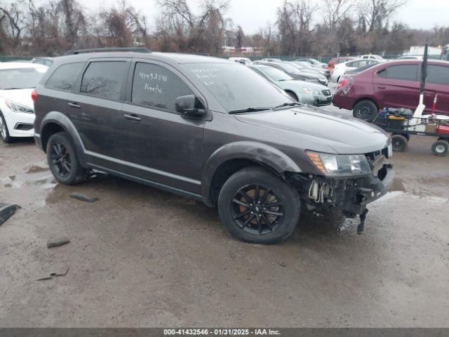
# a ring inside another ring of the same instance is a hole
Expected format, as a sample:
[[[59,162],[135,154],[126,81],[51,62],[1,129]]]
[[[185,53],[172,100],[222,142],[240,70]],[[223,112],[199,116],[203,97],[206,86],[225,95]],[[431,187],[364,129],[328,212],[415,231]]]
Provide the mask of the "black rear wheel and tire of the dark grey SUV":
[[[86,170],[79,164],[72,140],[65,132],[55,133],[48,139],[47,161],[51,173],[62,184],[72,185],[86,178]]]

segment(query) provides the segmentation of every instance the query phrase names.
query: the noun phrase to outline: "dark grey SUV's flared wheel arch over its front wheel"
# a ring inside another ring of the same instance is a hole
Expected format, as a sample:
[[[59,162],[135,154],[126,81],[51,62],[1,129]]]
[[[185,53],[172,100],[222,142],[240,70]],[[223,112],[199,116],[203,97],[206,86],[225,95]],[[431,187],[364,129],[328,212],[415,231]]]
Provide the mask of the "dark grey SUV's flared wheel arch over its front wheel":
[[[263,167],[281,179],[286,172],[301,172],[290,157],[272,146],[246,141],[231,143],[216,150],[206,162],[201,176],[202,196],[214,205],[225,181],[248,166]]]

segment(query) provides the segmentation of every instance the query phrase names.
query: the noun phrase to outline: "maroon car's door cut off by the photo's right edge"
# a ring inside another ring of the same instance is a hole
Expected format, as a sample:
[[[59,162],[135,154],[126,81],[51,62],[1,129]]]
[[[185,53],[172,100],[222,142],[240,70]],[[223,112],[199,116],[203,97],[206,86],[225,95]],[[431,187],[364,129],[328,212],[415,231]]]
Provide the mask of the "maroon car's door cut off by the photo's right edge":
[[[436,113],[449,114],[449,65],[427,65],[426,110],[431,110],[435,95],[438,95]]]

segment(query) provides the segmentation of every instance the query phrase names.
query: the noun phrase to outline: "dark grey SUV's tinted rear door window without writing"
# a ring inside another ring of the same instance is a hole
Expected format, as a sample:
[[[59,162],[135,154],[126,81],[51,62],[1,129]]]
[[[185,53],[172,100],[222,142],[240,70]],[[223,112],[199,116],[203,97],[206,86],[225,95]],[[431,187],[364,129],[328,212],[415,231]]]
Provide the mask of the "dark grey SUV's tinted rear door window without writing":
[[[95,61],[88,65],[81,80],[81,93],[119,100],[126,80],[125,61]]]

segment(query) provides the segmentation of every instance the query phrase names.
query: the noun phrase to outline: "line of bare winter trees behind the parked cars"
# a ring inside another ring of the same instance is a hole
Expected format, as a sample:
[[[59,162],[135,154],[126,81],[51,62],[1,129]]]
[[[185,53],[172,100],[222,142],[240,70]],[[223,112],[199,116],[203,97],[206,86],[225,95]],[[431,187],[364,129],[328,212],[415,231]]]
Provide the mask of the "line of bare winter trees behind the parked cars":
[[[229,18],[231,0],[201,0],[194,9],[188,0],[156,0],[159,15],[152,19],[126,0],[95,11],[77,0],[0,0],[0,54],[142,46],[220,55],[227,45],[259,47],[263,55],[335,56],[449,44],[449,27],[412,29],[394,21],[406,1],[284,0],[273,23],[246,34]]]

